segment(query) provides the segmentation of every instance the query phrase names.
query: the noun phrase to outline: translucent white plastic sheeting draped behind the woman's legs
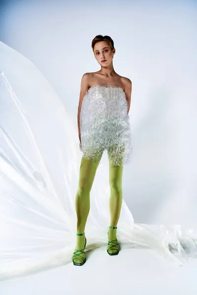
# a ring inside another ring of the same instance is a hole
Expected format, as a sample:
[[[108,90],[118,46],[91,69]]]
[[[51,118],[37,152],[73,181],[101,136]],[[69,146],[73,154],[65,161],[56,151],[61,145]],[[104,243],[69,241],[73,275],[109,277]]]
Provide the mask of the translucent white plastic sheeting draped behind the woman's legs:
[[[78,130],[46,79],[0,42],[0,279],[72,263]],[[107,245],[108,179],[100,163],[91,191],[86,250]],[[197,231],[135,224],[123,201],[117,237],[124,248],[151,248],[177,265],[197,255]],[[126,263],[126,262],[125,262]]]

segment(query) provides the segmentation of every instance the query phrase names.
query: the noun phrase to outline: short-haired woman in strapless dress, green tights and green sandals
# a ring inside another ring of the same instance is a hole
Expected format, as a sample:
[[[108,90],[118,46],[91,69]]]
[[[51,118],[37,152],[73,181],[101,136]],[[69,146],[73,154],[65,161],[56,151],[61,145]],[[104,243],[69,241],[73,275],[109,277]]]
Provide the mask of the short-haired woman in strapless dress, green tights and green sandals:
[[[109,255],[119,253],[116,237],[117,223],[122,205],[122,175],[124,164],[129,163],[131,133],[129,110],[131,80],[114,71],[114,42],[109,36],[97,35],[92,49],[101,69],[85,73],[81,80],[78,106],[78,135],[83,152],[79,186],[75,199],[77,213],[77,239],[72,256],[73,264],[86,262],[85,226],[90,211],[90,191],[102,153],[107,149],[109,158],[110,218],[108,231]]]

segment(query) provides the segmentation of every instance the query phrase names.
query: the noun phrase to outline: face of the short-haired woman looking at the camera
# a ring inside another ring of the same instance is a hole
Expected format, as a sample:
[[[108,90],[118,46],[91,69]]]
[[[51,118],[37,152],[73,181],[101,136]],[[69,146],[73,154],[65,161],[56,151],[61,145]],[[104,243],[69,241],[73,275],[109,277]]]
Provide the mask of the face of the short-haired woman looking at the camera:
[[[113,54],[115,53],[115,48],[113,51],[111,47],[105,41],[99,41],[94,47],[95,58],[101,66],[107,66],[112,62]],[[106,60],[106,61],[102,61]]]

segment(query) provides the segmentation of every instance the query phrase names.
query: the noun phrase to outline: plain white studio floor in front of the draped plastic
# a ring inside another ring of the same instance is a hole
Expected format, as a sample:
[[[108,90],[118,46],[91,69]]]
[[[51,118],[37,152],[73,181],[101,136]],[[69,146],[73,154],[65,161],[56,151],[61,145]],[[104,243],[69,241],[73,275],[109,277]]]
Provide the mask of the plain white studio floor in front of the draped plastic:
[[[86,253],[83,266],[66,266],[0,282],[0,295],[196,295],[197,259],[175,266],[149,249],[104,248]]]

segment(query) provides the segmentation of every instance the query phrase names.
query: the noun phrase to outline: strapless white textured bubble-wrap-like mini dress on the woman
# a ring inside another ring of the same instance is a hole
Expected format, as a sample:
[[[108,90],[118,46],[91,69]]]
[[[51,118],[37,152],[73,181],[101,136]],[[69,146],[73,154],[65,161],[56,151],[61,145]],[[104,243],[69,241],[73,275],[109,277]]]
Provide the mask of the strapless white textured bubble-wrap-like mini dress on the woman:
[[[121,87],[94,85],[83,98],[80,112],[81,151],[85,159],[99,163],[106,149],[111,165],[131,160],[128,102]]]

